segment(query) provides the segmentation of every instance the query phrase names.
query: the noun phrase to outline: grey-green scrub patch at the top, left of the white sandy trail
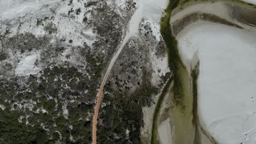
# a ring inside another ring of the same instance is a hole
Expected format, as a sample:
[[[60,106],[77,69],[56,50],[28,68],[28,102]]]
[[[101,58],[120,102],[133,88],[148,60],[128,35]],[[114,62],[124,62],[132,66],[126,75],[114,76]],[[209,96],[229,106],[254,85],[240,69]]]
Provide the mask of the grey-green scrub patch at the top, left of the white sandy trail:
[[[98,39],[92,45],[93,49],[91,52],[98,53],[106,62],[110,62],[113,54],[117,51],[120,41],[124,36],[123,29],[126,28],[132,16],[131,14],[135,10],[130,8],[132,5],[131,1],[129,0],[129,3],[125,3],[129,10],[124,15],[119,15],[116,12],[117,10],[115,10],[119,8],[113,8],[113,5],[109,5],[104,0],[88,1],[84,4],[85,8],[90,7],[84,13],[84,25],[92,27],[94,33],[98,35]],[[90,15],[90,19],[86,17],[87,15]]]

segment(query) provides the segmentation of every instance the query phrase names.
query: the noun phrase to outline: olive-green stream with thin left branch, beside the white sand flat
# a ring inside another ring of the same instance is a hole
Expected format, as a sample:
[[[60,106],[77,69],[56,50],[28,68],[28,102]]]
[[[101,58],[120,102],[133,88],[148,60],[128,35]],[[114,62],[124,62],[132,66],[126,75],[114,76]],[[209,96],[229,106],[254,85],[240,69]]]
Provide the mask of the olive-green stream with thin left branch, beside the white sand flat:
[[[159,117],[161,117],[160,111],[163,100],[165,97],[169,97],[169,95],[166,95],[168,91],[171,93],[170,105],[172,107],[171,119],[174,124],[174,134],[172,135],[174,143],[198,144],[201,143],[202,140],[207,141],[207,143],[217,143],[216,140],[202,128],[197,113],[197,76],[200,73],[199,59],[196,59],[195,65],[191,69],[185,67],[179,56],[178,43],[176,37],[173,35],[172,26],[170,25],[172,11],[177,10],[177,7],[182,7],[181,1],[182,0],[170,1],[165,10],[166,15],[161,19],[160,32],[167,47],[168,66],[172,71],[172,75],[170,80],[166,83],[155,107],[151,143],[159,143],[158,124]],[[194,1],[190,1],[188,3],[193,2]],[[245,4],[240,1],[231,2]],[[224,24],[226,23],[224,22]]]

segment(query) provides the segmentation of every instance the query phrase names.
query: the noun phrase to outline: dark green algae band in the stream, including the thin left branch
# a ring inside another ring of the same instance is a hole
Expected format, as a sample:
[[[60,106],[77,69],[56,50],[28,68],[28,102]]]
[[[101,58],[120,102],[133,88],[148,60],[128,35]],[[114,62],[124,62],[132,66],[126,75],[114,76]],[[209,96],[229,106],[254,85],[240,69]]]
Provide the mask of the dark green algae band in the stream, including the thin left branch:
[[[170,80],[167,81],[160,97],[158,100],[158,103],[155,107],[155,112],[153,116],[153,124],[152,124],[152,137],[151,137],[151,143],[157,143],[157,121],[158,121],[158,114],[161,108],[162,100],[164,100],[165,94],[167,93],[168,87],[171,85],[171,82],[174,80],[173,85],[173,92],[177,95],[174,98],[174,103],[176,105],[180,105],[184,109],[184,105],[182,103],[184,94],[183,94],[183,88],[182,88],[182,82],[181,79],[179,79],[179,76],[177,74],[178,65],[182,65],[182,62],[179,57],[178,53],[178,47],[177,47],[177,40],[172,34],[172,29],[170,26],[170,18],[171,18],[171,12],[174,8],[177,7],[179,1],[170,1],[168,4],[168,7],[166,8],[165,12],[166,15],[162,17],[161,19],[161,29],[160,33],[162,37],[164,38],[166,47],[167,47],[167,56],[168,56],[168,67],[172,71],[172,77]]]

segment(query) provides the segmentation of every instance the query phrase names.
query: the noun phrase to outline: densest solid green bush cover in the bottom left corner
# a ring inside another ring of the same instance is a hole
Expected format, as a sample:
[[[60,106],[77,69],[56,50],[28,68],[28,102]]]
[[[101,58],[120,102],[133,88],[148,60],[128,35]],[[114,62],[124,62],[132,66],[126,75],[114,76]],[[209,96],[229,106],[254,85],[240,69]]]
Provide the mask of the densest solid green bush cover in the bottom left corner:
[[[37,115],[38,118],[47,118],[43,113]],[[26,125],[25,122],[19,123],[19,116],[20,112],[11,111],[9,106],[4,111],[0,109],[1,143],[55,143],[48,139],[49,135],[40,127],[40,123],[35,124],[34,127]]]

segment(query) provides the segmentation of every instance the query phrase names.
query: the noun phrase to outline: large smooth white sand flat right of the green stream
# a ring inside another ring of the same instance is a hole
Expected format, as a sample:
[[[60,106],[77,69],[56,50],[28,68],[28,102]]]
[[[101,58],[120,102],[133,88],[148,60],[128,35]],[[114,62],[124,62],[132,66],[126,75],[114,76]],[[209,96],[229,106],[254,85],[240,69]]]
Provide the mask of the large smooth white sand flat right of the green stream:
[[[255,36],[234,27],[196,22],[177,37],[186,63],[199,56],[199,117],[219,143],[256,143]]]

